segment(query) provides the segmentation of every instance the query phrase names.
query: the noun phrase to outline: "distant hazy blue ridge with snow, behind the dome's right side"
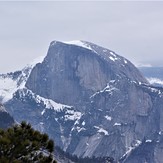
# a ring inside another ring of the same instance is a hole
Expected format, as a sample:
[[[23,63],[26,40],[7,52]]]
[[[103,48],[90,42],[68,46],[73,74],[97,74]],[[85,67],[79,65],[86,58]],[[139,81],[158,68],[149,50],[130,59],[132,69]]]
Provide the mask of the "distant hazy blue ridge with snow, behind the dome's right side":
[[[163,87],[163,67],[139,67],[139,70],[152,85]]]

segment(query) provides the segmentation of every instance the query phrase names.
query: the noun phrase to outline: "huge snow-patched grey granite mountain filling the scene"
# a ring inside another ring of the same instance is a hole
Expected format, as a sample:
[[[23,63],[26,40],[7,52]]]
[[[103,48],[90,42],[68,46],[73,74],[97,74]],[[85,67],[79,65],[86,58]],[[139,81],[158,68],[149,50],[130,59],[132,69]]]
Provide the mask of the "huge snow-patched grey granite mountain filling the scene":
[[[163,89],[124,57],[86,41],[53,41],[42,62],[13,74],[1,75],[1,83],[16,83],[10,98],[3,85],[1,101],[16,121],[48,133],[64,151],[134,162],[147,141],[155,142],[154,162],[162,158]]]

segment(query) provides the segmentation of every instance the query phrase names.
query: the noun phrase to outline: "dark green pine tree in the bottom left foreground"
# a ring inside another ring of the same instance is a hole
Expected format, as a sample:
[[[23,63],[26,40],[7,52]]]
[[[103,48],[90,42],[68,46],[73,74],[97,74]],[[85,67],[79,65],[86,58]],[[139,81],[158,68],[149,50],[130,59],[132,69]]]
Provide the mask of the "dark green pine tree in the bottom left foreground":
[[[47,134],[34,130],[22,122],[7,130],[0,129],[0,162],[56,163],[52,152],[54,143]]]

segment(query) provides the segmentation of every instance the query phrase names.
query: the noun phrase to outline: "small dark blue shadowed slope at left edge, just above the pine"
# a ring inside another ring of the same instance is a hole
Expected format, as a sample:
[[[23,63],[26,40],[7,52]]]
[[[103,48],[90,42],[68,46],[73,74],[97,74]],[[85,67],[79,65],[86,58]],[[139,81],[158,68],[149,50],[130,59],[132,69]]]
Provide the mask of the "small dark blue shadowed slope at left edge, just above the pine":
[[[4,106],[0,103],[0,128],[6,129],[14,124],[14,119],[7,113]]]

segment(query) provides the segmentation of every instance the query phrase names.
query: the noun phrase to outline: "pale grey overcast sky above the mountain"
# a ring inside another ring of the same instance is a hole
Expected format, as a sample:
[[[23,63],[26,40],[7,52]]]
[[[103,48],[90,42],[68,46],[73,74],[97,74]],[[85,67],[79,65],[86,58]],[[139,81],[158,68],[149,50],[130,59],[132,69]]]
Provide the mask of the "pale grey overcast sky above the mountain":
[[[163,66],[163,1],[0,1],[0,73],[46,55],[53,40],[90,41]]]

